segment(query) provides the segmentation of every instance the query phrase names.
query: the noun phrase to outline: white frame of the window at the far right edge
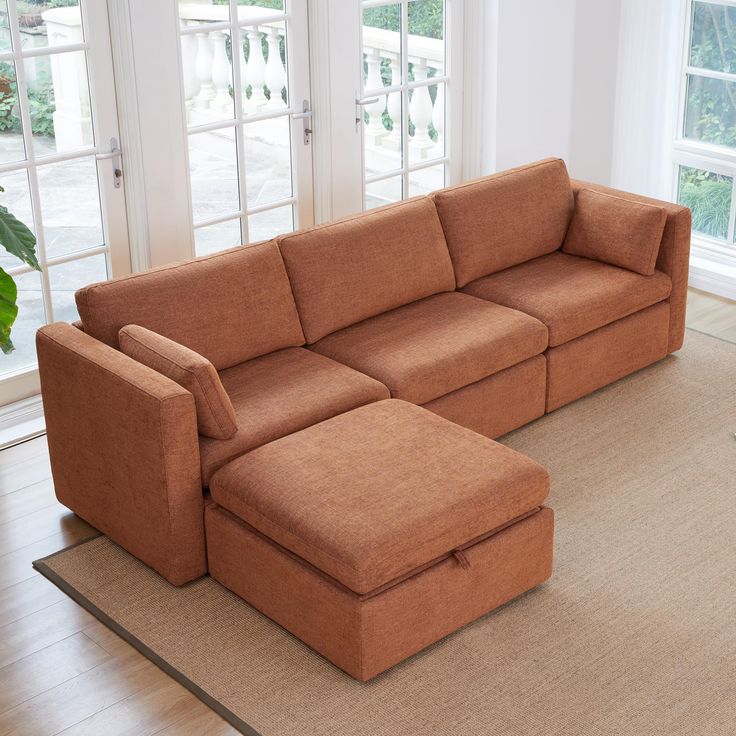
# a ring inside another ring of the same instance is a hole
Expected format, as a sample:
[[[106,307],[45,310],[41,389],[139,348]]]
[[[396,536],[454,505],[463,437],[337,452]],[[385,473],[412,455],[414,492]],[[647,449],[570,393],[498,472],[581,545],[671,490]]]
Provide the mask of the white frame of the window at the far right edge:
[[[736,7],[736,0],[698,0],[713,5]],[[715,72],[690,65],[693,13],[696,0],[684,0],[686,22],[683,33],[682,62],[679,70],[679,94],[675,139],[672,147],[672,200],[678,201],[680,166],[712,171],[733,179],[731,211],[726,243],[693,231],[690,283],[712,293],[736,299],[736,148],[719,146],[685,138],[688,75],[736,83],[736,74]]]

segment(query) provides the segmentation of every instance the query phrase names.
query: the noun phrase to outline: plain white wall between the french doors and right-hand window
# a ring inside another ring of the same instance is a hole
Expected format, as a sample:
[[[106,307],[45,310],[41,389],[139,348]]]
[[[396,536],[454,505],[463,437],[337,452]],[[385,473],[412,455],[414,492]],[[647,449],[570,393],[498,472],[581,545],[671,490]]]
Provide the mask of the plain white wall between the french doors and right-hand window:
[[[496,168],[560,156],[612,172],[621,0],[499,0]]]

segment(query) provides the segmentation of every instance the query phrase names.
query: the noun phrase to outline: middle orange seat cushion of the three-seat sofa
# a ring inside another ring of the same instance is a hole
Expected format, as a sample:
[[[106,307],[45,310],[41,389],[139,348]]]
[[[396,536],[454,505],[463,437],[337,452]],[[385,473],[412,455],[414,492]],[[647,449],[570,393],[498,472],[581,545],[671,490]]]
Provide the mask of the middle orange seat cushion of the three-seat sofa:
[[[521,363],[547,347],[526,314],[467,294],[436,294],[333,333],[312,349],[424,404]]]

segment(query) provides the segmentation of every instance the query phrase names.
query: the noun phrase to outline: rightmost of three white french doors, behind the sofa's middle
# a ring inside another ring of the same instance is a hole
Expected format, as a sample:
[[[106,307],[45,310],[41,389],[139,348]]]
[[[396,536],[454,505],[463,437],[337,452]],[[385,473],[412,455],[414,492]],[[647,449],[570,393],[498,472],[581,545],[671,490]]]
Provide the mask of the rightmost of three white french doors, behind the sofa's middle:
[[[461,0],[363,0],[361,93],[365,209],[456,179]]]

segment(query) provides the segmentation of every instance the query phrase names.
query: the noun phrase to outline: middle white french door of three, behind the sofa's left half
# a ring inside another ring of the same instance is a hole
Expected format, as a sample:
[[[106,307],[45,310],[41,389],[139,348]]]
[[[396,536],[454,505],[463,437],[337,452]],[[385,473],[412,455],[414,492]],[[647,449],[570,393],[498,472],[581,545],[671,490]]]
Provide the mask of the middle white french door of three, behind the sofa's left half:
[[[180,0],[194,252],[313,222],[306,0]]]

